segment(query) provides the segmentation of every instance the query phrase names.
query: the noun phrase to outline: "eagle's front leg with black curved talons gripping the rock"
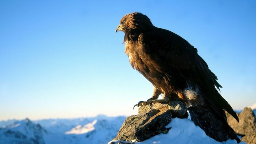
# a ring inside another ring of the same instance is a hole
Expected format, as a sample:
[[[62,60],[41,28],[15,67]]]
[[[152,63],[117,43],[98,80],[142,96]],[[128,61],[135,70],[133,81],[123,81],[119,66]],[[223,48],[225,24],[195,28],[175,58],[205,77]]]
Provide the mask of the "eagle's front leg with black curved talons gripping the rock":
[[[162,92],[158,88],[154,87],[152,97],[150,99],[148,99],[147,101],[140,101],[138,104],[135,104],[133,106],[133,109],[135,108],[135,106],[138,106],[138,107],[139,106],[146,106],[146,105],[151,105],[152,103],[155,104],[156,102],[154,102],[154,101],[161,101],[161,100],[157,100],[161,93]]]

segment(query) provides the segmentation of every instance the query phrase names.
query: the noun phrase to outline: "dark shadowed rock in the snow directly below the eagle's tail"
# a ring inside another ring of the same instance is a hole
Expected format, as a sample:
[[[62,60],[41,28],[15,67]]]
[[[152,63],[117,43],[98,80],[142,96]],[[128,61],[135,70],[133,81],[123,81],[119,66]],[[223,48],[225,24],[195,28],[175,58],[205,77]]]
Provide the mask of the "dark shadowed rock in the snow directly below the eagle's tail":
[[[208,108],[200,108],[199,110],[196,106],[191,106],[188,110],[191,120],[203,129],[207,136],[219,142],[229,139],[235,139],[238,143],[241,141],[234,130],[227,123],[217,119]]]

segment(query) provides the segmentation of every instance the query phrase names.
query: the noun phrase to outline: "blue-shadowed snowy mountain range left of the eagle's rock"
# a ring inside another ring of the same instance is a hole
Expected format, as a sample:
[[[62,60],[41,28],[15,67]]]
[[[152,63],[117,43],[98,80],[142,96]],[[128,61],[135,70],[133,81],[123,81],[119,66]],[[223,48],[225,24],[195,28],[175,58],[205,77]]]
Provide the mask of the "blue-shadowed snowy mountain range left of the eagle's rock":
[[[7,125],[0,121],[0,144],[106,144],[117,134],[126,116],[99,115],[79,119],[25,119]]]

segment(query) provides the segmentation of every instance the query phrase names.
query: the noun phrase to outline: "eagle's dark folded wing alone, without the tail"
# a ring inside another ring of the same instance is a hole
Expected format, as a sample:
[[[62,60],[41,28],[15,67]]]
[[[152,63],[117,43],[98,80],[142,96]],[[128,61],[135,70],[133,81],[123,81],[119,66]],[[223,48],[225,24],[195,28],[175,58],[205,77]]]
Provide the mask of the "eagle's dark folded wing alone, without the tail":
[[[145,53],[151,55],[167,74],[176,70],[178,71],[176,74],[180,74],[181,77],[198,81],[198,83],[210,81],[218,89],[221,87],[217,82],[217,76],[209,70],[204,59],[197,54],[197,49],[177,34],[155,28],[140,34],[138,43],[139,47],[143,47]],[[207,79],[204,80],[204,78]]]

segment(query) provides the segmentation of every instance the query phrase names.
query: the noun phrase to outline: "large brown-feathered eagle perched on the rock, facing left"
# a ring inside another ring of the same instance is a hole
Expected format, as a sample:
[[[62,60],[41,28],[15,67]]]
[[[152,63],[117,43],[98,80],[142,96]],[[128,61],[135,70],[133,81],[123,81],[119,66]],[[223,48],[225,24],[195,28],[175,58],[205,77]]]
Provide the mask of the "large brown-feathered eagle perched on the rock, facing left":
[[[165,102],[180,100],[187,106],[205,106],[225,121],[226,110],[239,121],[232,107],[217,91],[221,88],[217,76],[189,42],[173,32],[156,28],[141,13],[125,15],[117,31],[125,33],[125,53],[132,68],[154,85],[152,99],[156,100],[163,93]]]

